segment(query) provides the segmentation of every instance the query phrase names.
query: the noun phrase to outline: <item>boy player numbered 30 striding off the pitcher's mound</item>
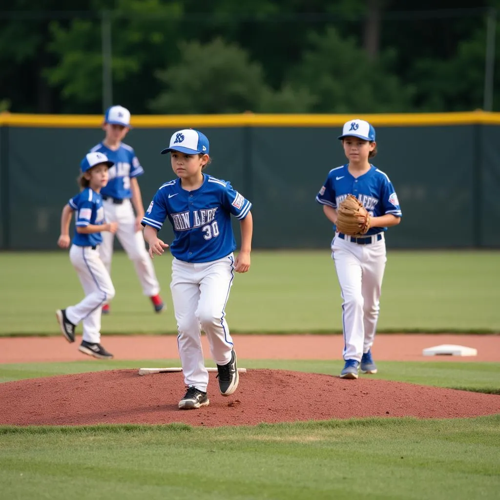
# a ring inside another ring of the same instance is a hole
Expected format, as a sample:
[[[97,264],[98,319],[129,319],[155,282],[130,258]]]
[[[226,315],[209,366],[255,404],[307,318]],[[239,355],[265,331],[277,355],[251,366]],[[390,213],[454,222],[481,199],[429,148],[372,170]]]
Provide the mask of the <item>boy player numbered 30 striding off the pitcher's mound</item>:
[[[251,203],[225,180],[202,172],[209,163],[208,139],[193,129],[179,130],[161,154],[170,152],[177,176],[154,195],[142,219],[149,255],[161,255],[168,247],[158,239],[166,218],[173,227],[173,308],[177,320],[177,345],[187,391],[179,408],[208,404],[208,372],[201,350],[200,328],[206,333],[210,353],[217,364],[220,393],[232,394],[238,385],[236,353],[225,320],[234,271],[250,267],[252,236]],[[240,221],[241,249],[236,248],[231,214]]]

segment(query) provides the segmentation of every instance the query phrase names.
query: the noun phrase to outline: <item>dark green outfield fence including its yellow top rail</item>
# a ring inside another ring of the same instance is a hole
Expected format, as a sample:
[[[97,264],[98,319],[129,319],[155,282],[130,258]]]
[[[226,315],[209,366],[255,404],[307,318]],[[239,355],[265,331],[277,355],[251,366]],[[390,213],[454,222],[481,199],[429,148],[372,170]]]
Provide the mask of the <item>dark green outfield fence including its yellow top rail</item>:
[[[159,154],[172,132],[201,129],[210,139],[208,173],[253,202],[255,248],[324,248],[331,226],[314,197],[344,162],[336,137],[353,117],[375,126],[373,164],[400,200],[403,222],[390,230],[389,247],[500,246],[491,230],[500,220],[500,113],[136,115],[125,142],[144,167],[147,206],[173,177],[168,156]],[[102,139],[101,119],[0,114],[1,249],[55,247],[61,208],[78,190],[79,162]]]

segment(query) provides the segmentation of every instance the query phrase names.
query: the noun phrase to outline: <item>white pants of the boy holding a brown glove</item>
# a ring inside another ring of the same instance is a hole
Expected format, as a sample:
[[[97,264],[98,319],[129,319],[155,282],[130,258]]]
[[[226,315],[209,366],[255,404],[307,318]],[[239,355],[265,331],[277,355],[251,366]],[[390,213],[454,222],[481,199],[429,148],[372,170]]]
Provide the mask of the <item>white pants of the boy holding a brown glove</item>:
[[[342,329],[344,359],[361,360],[375,338],[382,278],[387,260],[385,239],[371,244],[357,244],[335,235],[331,243],[331,256],[335,262],[342,303]]]

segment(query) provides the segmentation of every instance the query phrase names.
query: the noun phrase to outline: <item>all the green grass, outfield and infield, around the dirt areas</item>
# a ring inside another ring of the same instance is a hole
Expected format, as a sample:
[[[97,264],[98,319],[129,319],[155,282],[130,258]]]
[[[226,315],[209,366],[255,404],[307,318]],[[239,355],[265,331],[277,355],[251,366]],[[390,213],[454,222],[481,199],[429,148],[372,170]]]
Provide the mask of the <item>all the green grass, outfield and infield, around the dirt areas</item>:
[[[379,331],[500,331],[499,257],[493,251],[389,252]],[[103,317],[103,332],[175,331],[170,260],[154,263],[169,310],[152,313],[131,263],[118,252],[112,272],[117,294],[112,314]],[[327,250],[254,252],[250,272],[235,281],[227,307],[233,331],[339,331],[339,288]],[[54,309],[81,297],[67,252],[0,253],[0,335],[58,334]],[[178,359],[0,364],[0,382],[159,363],[178,365]],[[239,364],[336,375],[342,362],[241,359]],[[377,364],[373,378],[500,392],[498,363]],[[496,499],[499,429],[500,413],[219,428],[0,426],[0,497]]]

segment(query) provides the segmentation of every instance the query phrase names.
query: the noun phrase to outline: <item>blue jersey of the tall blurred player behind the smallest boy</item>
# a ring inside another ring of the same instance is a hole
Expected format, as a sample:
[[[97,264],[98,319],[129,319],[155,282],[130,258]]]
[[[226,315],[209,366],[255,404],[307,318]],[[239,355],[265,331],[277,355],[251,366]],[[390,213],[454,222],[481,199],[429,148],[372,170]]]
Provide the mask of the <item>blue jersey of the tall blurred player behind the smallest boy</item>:
[[[101,194],[116,199],[131,198],[130,179],[144,173],[133,148],[122,142],[118,149],[113,151],[99,142],[90,149],[90,152],[96,151],[105,154],[107,159],[114,163],[109,167],[109,180],[100,190]]]

